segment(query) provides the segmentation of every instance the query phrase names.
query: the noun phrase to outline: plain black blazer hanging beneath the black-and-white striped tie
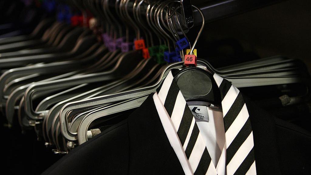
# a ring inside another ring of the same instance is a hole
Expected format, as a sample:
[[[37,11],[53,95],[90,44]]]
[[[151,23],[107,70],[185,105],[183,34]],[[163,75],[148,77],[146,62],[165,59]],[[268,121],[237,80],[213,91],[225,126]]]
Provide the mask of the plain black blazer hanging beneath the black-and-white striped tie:
[[[152,95],[128,119],[73,149],[43,174],[184,174]],[[244,100],[253,129],[257,174],[310,175],[311,134]]]

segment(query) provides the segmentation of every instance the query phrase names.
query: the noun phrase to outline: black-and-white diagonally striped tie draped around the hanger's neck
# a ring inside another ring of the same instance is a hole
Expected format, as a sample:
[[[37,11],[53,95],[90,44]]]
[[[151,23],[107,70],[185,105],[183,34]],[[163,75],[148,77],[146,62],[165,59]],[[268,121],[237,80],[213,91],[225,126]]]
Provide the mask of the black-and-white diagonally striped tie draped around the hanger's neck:
[[[229,81],[216,74],[214,78],[220,88],[222,98],[227,175],[256,174],[253,134],[243,97]],[[171,72],[157,89],[157,93],[171,118],[193,174],[216,175],[215,165],[207,151],[195,118]]]

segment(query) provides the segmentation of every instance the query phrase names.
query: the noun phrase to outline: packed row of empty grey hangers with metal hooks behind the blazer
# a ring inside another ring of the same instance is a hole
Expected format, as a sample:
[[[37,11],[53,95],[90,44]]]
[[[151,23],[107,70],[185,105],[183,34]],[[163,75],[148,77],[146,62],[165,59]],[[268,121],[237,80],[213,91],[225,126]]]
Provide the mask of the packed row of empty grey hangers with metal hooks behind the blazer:
[[[0,105],[8,126],[25,132],[35,129],[55,153],[67,153],[123,120],[156,91],[170,70],[203,71],[185,68],[182,61],[185,55],[193,55],[205,25],[199,8],[192,6],[200,12],[202,26],[190,43],[186,33],[192,26],[185,24],[180,1],[65,2],[84,15],[91,12],[109,43],[104,37],[104,45],[98,42],[87,27],[53,19],[42,20],[30,35],[0,40]],[[115,47],[120,38],[123,45]],[[129,49],[141,38],[143,49]],[[187,47],[175,52],[183,41]],[[144,56],[146,48],[151,48],[150,58]],[[153,50],[160,51],[152,54]],[[295,59],[275,56],[215,69],[202,57],[198,56],[197,66],[207,67],[238,88],[299,84],[303,92],[295,97],[296,103],[310,99],[308,73]]]

